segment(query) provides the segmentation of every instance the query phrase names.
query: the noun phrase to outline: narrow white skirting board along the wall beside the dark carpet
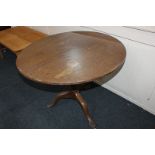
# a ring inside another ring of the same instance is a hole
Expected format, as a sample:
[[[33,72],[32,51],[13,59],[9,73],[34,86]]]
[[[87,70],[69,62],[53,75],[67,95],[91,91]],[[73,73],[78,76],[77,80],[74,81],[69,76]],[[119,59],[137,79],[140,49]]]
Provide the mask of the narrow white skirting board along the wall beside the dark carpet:
[[[115,93],[115,94],[117,94],[117,95],[123,97],[124,99],[126,99],[126,100],[128,100],[128,101],[130,101],[130,102],[132,102],[132,103],[134,103],[134,104],[136,104],[137,106],[139,106],[139,107],[141,107],[142,109],[148,111],[149,113],[155,115],[155,111],[152,111],[152,109],[146,107],[145,105],[140,105],[136,100],[130,98],[130,97],[127,96],[126,94],[124,94],[124,93],[122,93],[122,92],[120,92],[120,91],[118,91],[118,90],[116,90],[116,89],[110,87],[110,86],[107,85],[107,84],[101,85],[98,81],[94,81],[94,82],[97,83],[97,84],[99,84],[101,87],[104,87],[104,88],[110,90],[111,92],[113,92],[113,93]]]

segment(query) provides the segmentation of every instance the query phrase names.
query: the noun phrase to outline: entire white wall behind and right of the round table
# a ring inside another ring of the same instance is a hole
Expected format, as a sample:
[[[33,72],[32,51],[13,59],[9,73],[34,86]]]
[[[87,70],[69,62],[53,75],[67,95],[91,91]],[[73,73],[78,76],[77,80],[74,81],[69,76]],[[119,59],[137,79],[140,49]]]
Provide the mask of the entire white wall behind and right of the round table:
[[[121,71],[103,87],[155,114],[155,33],[129,27],[32,27],[47,34],[89,30],[108,33],[126,47],[127,58]],[[151,27],[154,29],[155,27]],[[144,29],[143,29],[144,30]]]

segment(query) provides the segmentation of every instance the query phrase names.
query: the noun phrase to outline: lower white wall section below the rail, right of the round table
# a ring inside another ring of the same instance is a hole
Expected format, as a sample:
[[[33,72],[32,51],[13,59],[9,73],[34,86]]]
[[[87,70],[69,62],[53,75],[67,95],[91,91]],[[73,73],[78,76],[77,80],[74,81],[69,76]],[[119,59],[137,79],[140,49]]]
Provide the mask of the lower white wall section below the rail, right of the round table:
[[[153,101],[151,107],[148,105],[155,86],[155,47],[118,39],[126,47],[126,62],[119,74],[103,86],[155,114]]]

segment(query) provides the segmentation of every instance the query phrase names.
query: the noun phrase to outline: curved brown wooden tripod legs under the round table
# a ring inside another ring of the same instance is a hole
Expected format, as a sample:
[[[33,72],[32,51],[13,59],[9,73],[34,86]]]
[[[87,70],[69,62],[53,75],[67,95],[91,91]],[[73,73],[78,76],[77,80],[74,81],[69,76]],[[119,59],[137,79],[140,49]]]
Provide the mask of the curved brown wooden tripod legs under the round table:
[[[89,125],[92,128],[95,128],[96,124],[90,115],[87,102],[83,99],[83,97],[81,96],[79,91],[73,90],[73,91],[66,91],[66,92],[61,92],[61,93],[57,94],[56,97],[54,98],[53,102],[48,104],[48,107],[50,108],[50,107],[56,105],[58,103],[58,101],[61,99],[69,99],[69,98],[75,99],[79,102],[79,104],[85,114],[85,117],[87,118],[87,120],[89,122]]]

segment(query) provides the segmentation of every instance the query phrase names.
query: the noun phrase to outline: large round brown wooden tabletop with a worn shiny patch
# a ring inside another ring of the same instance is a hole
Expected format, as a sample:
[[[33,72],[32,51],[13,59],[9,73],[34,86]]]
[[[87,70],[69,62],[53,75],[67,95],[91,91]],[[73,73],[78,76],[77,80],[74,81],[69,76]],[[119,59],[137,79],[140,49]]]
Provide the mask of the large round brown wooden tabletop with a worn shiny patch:
[[[98,32],[76,31],[34,42],[17,57],[26,78],[51,85],[74,85],[101,78],[125,61],[125,48],[117,39]]]

